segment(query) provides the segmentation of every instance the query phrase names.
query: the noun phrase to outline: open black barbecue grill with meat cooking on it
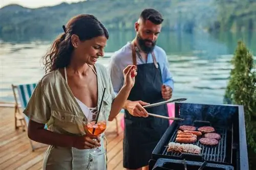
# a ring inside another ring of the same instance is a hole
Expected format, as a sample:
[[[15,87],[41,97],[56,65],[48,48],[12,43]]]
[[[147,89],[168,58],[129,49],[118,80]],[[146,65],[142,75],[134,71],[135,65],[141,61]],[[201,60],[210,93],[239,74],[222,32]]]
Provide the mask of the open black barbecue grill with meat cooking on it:
[[[207,162],[204,170],[248,170],[248,156],[244,123],[244,110],[240,105],[206,105],[193,103],[175,103],[175,117],[184,121],[174,121],[152,152],[150,169],[198,169]],[[195,144],[202,148],[201,154],[167,152],[169,142],[175,142],[181,125],[196,128],[212,126],[221,135],[216,146],[203,145],[197,140]],[[183,167],[183,168],[181,168]]]

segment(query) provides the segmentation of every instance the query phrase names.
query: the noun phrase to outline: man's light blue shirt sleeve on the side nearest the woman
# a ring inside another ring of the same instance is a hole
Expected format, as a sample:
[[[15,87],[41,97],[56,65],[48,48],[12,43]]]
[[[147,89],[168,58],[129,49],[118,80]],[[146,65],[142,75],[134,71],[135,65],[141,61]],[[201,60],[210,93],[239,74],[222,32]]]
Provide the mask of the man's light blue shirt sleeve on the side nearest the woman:
[[[115,56],[112,56],[110,61],[109,72],[114,92],[117,94],[123,84],[123,71],[118,67],[118,62],[116,61]]]

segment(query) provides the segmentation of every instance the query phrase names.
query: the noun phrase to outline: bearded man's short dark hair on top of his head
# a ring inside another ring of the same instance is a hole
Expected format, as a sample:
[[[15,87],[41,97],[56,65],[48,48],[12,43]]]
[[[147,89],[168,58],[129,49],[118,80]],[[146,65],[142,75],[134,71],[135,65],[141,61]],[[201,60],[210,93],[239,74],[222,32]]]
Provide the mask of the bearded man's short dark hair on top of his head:
[[[162,15],[154,9],[144,9],[140,14],[140,18],[143,21],[150,20],[155,25],[160,25],[163,22]]]

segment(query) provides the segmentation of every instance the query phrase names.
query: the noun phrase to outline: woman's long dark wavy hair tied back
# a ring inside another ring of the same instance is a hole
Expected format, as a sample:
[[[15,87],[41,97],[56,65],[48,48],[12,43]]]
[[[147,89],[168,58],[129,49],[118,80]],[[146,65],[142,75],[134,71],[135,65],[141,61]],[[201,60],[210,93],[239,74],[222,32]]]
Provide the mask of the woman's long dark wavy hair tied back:
[[[63,26],[63,30],[64,32],[53,42],[50,51],[43,57],[46,73],[69,65],[74,50],[71,42],[73,34],[77,35],[80,41],[98,36],[105,36],[109,39],[108,30],[93,15],[77,15],[68,21],[66,27]]]

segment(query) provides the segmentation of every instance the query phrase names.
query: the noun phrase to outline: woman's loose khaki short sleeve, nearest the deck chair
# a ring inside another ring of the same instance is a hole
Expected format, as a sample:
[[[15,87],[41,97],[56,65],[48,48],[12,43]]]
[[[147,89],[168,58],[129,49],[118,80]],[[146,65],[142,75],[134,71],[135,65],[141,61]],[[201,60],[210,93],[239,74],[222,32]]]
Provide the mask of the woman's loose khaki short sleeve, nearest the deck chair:
[[[51,116],[50,105],[42,89],[41,81],[36,85],[31,98],[23,111],[31,120],[46,124]]]

